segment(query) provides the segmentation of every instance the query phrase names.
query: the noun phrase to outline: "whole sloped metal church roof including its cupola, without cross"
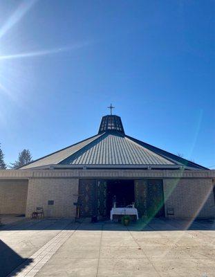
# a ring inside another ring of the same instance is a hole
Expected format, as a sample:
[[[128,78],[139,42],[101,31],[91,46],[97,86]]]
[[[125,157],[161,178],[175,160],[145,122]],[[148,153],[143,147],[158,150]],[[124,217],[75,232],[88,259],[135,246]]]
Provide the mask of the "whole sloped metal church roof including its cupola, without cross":
[[[58,166],[155,166],[173,168],[185,166],[187,169],[207,169],[180,158],[160,148],[133,139],[124,134],[119,116],[103,116],[99,134],[80,143],[32,161],[21,169]]]

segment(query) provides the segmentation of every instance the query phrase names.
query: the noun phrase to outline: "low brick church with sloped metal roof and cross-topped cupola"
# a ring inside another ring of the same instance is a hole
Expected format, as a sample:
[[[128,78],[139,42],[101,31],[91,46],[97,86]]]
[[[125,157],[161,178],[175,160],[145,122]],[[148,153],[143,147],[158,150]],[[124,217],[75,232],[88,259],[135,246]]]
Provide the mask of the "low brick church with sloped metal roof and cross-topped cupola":
[[[183,138],[182,138],[183,139]],[[120,116],[103,116],[95,136],[17,170],[0,170],[0,214],[109,218],[133,204],[141,217],[214,217],[215,170],[126,134]]]

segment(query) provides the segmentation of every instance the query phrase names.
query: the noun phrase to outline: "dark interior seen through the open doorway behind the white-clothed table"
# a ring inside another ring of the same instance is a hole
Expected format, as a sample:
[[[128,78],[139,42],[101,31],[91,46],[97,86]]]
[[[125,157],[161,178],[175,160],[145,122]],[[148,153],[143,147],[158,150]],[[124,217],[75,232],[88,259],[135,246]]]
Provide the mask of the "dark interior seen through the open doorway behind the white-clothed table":
[[[133,180],[109,180],[107,181],[107,213],[111,211],[113,199],[116,199],[117,207],[131,205],[135,201]]]

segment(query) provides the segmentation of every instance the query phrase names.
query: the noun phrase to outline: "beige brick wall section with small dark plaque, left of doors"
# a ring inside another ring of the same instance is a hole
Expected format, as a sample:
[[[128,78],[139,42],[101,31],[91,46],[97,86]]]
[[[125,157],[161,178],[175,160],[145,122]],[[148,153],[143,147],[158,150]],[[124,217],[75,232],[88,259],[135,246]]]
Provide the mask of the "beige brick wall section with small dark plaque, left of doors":
[[[26,216],[30,217],[37,206],[43,206],[45,217],[75,217],[78,179],[30,179]],[[54,200],[54,205],[48,205]]]

